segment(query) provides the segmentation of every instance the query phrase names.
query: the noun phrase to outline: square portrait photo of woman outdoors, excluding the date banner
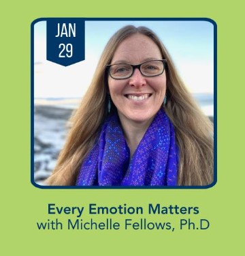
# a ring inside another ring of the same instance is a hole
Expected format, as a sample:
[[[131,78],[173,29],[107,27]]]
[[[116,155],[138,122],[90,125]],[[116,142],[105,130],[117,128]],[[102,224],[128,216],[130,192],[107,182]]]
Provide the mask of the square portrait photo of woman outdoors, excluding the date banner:
[[[85,58],[62,66],[46,57],[48,19],[31,35],[33,185],[214,186],[212,20],[84,20]]]

